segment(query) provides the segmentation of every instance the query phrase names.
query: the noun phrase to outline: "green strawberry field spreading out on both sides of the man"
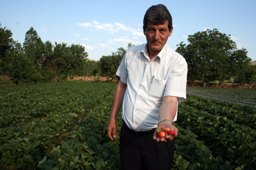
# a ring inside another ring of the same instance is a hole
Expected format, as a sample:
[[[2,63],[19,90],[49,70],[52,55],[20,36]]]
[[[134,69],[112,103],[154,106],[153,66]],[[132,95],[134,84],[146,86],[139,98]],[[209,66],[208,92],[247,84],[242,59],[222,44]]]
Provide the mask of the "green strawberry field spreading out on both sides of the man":
[[[121,169],[121,113],[115,141],[105,132],[115,89],[96,81],[0,87],[0,169]],[[256,169],[255,117],[252,106],[188,94],[172,169]]]

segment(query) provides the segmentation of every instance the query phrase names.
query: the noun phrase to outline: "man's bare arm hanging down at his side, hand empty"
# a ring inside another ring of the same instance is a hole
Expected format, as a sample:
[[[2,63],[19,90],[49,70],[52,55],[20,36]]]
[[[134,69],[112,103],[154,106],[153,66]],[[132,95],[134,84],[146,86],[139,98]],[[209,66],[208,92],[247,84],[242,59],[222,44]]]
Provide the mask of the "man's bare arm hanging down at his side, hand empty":
[[[113,107],[112,107],[108,128],[107,128],[108,137],[111,140],[114,140],[116,138],[116,127],[117,127],[116,116],[118,114],[118,111],[120,111],[120,108],[122,107],[126,88],[127,88],[127,84],[122,83],[122,81],[119,81],[116,87]]]

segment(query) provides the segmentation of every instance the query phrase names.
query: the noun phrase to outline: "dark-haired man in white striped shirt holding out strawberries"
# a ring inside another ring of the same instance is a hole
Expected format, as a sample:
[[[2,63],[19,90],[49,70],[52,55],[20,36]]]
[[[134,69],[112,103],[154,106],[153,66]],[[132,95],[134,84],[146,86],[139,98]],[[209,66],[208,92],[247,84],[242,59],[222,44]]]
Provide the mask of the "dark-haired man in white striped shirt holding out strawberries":
[[[108,136],[116,137],[116,116],[123,106],[124,124],[120,134],[123,169],[171,169],[174,138],[178,129],[177,104],[186,99],[188,65],[166,45],[173,31],[172,16],[163,4],[145,13],[143,32],[147,44],[127,50],[118,67],[120,77],[109,118]],[[157,138],[156,128],[175,131]]]

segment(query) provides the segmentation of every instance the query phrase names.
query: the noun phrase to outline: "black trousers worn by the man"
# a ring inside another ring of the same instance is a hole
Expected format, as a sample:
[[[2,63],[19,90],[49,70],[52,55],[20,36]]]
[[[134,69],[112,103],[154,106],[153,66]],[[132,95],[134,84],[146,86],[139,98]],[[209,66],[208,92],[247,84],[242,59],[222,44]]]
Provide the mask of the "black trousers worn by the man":
[[[137,135],[124,123],[120,134],[120,161],[122,169],[168,169],[174,155],[174,139],[163,143],[153,139],[150,134]]]

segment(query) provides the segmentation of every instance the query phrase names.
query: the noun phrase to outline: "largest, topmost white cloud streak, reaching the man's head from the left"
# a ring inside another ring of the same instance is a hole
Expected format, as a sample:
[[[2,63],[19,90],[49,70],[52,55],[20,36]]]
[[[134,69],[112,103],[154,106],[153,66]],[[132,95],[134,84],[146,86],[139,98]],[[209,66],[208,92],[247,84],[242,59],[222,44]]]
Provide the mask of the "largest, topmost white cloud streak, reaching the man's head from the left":
[[[92,21],[92,24],[89,22],[85,22],[85,23],[81,23],[78,22],[77,25],[79,25],[80,27],[94,27],[95,29],[99,30],[104,30],[104,31],[108,31],[111,34],[115,34],[118,33],[120,30],[121,31],[128,31],[128,32],[132,32],[132,35],[134,36],[144,36],[143,32],[140,32],[140,29],[132,29],[131,27],[126,27],[124,24],[115,22],[115,24],[100,24],[100,22],[97,21]]]

